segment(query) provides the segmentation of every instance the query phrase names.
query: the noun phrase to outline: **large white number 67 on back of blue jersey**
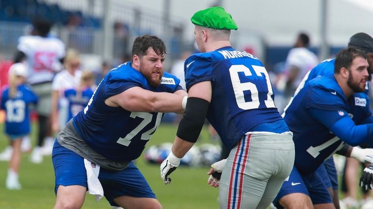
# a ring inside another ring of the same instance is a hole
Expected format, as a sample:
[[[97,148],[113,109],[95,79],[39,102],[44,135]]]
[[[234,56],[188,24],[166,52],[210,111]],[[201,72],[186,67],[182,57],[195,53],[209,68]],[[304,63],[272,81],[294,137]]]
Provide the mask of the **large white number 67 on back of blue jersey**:
[[[269,75],[267,71],[265,70],[263,66],[252,65],[252,68],[254,69],[255,74],[257,76],[262,77],[263,76],[262,73],[264,74],[264,79],[266,80],[267,88],[268,88],[267,99],[264,100],[265,106],[267,108],[275,107],[275,103],[271,97],[273,94],[273,91],[272,91],[272,86],[271,86],[271,82],[269,80]],[[260,105],[258,89],[256,88],[254,83],[251,83],[251,82],[241,83],[240,78],[238,76],[239,72],[243,72],[246,76],[252,76],[249,68],[246,67],[245,65],[232,65],[229,68],[229,73],[231,75],[232,86],[233,86],[237,105],[239,108],[244,109],[244,110],[256,109]],[[251,92],[250,102],[245,101],[244,91],[246,90],[249,90]]]

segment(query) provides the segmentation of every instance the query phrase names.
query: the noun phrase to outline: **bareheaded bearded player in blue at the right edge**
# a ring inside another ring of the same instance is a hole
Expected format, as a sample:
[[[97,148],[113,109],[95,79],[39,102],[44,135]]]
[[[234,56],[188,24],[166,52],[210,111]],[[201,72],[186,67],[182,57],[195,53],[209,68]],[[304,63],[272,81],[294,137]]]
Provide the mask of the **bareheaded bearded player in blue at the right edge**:
[[[299,90],[284,119],[294,133],[295,165],[274,200],[277,208],[333,209],[317,168],[344,143],[373,144],[366,52],[348,47],[336,56],[334,75],[319,76]],[[313,206],[312,206],[313,205]]]

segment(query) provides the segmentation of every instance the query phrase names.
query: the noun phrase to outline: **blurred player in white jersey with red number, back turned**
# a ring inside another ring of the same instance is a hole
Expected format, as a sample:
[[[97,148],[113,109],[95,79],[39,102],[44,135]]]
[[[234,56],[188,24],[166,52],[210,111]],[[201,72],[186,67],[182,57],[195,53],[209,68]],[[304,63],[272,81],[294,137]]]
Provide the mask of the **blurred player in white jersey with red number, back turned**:
[[[14,62],[27,62],[27,83],[39,98],[36,107],[39,133],[37,144],[30,156],[32,163],[43,161],[41,153],[43,142],[46,149],[51,149],[53,145],[50,123],[52,81],[55,73],[62,70],[65,45],[60,39],[50,36],[51,27],[51,22],[35,19],[32,23],[31,35],[19,37],[18,51],[14,59]]]

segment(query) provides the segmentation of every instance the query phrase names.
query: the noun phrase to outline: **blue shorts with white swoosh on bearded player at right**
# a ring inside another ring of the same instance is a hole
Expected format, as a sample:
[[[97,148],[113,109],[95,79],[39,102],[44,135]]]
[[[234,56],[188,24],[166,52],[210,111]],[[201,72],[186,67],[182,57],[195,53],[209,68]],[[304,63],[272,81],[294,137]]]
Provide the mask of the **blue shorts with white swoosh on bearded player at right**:
[[[290,173],[289,180],[282,184],[280,192],[273,200],[273,204],[278,209],[283,209],[279,200],[283,196],[293,193],[303,193],[310,196],[314,205],[333,202],[323,179],[316,171],[308,175],[300,175],[295,166]]]

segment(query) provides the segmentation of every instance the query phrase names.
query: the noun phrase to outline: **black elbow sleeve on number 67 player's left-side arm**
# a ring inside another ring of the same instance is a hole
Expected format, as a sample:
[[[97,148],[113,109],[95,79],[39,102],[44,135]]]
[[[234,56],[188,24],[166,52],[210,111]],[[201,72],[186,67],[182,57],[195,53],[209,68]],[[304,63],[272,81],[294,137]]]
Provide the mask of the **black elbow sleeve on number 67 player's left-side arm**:
[[[210,103],[204,99],[189,97],[176,135],[188,142],[196,142],[201,133],[209,105]]]

